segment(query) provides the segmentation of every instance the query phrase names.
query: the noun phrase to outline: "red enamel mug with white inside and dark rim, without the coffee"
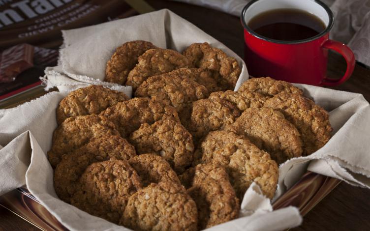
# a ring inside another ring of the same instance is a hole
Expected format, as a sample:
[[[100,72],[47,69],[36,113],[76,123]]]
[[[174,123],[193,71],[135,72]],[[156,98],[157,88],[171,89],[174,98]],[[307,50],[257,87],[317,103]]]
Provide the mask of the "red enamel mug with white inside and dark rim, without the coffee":
[[[296,41],[264,37],[248,27],[256,15],[274,9],[299,9],[317,16],[326,28],[316,36]],[[344,44],[329,39],[334,24],[330,8],[319,0],[252,0],[243,9],[245,62],[254,77],[270,76],[291,83],[315,86],[336,86],[346,81],[355,67],[353,52]],[[340,79],[326,76],[328,49],[338,52],[347,62]]]

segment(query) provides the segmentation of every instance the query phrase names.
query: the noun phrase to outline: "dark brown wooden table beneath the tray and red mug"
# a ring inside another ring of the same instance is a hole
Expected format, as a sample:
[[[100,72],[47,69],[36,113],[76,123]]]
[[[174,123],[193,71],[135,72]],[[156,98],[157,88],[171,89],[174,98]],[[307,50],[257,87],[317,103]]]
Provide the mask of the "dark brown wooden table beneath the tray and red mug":
[[[147,2],[155,9],[172,10],[224,43],[240,57],[244,56],[243,27],[238,17],[180,2],[166,0],[147,0]],[[329,77],[342,76],[345,68],[343,58],[337,54],[330,54]],[[370,69],[357,63],[352,77],[333,89],[361,93],[370,101]],[[293,230],[370,230],[369,195],[368,189],[342,182],[304,217],[300,227]],[[37,228],[0,206],[0,231],[7,230],[37,230]]]

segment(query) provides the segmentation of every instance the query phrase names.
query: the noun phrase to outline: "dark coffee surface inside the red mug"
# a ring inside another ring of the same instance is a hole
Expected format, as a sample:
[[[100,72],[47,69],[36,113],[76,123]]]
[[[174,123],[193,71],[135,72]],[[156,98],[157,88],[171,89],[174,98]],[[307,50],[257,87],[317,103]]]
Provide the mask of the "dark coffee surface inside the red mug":
[[[274,9],[254,16],[248,27],[264,37],[282,41],[307,39],[324,31],[324,22],[300,9]]]

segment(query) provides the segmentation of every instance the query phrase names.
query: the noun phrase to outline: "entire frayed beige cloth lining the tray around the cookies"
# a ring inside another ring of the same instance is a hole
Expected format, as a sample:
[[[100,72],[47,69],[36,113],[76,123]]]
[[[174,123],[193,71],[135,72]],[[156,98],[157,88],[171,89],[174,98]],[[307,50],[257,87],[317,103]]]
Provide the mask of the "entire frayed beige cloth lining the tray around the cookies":
[[[202,30],[169,10],[160,10],[82,29],[63,31],[64,48],[59,66],[46,70],[44,83],[58,87],[17,108],[0,110],[0,195],[26,182],[30,192],[68,229],[124,230],[91,216],[58,199],[53,170],[46,153],[57,127],[55,110],[60,100],[76,87],[101,84],[129,92],[130,87],[104,83],[105,63],[114,49],[130,40],[148,40],[162,48],[184,50],[194,42],[208,42],[237,58],[243,67],[236,89],[248,79],[241,58]],[[284,193],[307,169],[370,186],[370,107],[361,94],[297,85],[306,96],[330,112],[333,138],[308,157],[295,158],[279,168],[275,198]],[[31,157],[31,159],[30,159]],[[281,230],[297,226],[302,219],[294,207],[272,211],[271,203],[253,184],[244,197],[240,218],[211,230]]]

